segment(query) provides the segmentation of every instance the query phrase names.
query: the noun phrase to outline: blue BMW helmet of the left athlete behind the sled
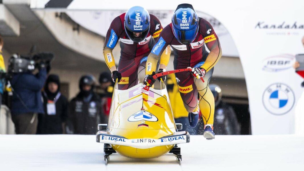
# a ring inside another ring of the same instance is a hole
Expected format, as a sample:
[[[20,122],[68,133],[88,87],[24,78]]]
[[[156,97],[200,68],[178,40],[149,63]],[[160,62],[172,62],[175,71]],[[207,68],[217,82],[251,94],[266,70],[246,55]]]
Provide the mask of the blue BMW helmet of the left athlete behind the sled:
[[[150,30],[149,12],[140,6],[130,8],[125,15],[125,30],[128,37],[134,42],[143,41]],[[139,36],[135,36],[134,32],[140,33]]]

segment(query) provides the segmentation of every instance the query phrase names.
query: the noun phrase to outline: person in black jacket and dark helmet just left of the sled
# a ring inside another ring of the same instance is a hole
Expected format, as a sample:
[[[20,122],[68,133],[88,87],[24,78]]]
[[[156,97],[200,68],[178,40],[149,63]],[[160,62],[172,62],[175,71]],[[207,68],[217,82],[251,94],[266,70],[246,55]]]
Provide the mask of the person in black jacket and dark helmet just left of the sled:
[[[105,123],[100,97],[93,92],[95,78],[85,75],[80,78],[80,92],[70,102],[69,128],[74,134],[96,134],[97,125]]]

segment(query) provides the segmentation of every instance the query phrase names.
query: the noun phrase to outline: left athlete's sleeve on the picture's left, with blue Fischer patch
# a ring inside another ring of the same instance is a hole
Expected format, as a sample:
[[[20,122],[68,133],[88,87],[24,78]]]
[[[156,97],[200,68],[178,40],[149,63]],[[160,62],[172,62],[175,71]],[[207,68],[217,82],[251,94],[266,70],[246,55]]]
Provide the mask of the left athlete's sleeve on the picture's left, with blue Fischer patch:
[[[123,31],[122,21],[118,16],[112,21],[105,38],[105,44],[103,46],[103,56],[105,57],[105,63],[109,69],[115,66],[112,50],[116,46],[119,36],[121,33],[123,33]]]

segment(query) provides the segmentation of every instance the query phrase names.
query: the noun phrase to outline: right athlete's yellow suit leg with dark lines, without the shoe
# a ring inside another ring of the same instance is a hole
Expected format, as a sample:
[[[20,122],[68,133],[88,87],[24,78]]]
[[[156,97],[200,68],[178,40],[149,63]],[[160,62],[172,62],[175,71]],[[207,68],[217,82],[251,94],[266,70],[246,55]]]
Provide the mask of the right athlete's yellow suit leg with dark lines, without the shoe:
[[[210,79],[212,77],[213,68],[209,70],[203,83],[202,80],[193,78],[197,91],[199,92],[199,108],[202,112],[202,117],[205,125],[213,125],[213,116],[214,116],[214,97],[208,86]]]

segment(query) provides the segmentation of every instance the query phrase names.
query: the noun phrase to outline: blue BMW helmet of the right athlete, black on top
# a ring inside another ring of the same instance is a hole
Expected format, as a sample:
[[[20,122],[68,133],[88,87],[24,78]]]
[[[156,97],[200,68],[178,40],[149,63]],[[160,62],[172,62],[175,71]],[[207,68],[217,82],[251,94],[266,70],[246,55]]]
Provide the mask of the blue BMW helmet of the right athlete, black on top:
[[[191,4],[177,6],[172,17],[172,29],[181,44],[192,43],[199,32],[199,17]]]

